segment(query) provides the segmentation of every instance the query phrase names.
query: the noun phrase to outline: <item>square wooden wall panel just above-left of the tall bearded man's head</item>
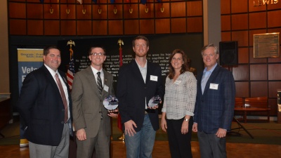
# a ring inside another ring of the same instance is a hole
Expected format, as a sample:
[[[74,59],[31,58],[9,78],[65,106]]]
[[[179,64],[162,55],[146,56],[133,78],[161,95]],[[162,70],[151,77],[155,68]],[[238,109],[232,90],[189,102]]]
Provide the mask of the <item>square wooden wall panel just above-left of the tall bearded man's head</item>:
[[[124,20],[124,32],[125,34],[140,34],[138,20]]]

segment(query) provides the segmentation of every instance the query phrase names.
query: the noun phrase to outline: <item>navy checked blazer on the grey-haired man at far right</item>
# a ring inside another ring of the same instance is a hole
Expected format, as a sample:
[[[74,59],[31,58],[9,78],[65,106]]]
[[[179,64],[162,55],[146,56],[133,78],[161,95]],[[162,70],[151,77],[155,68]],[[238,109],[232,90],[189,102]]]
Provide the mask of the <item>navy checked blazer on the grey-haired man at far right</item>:
[[[211,73],[202,95],[203,72],[197,76],[197,96],[194,121],[198,131],[216,133],[218,128],[230,130],[235,105],[235,82],[233,74],[217,65]],[[218,84],[211,89],[210,84]]]

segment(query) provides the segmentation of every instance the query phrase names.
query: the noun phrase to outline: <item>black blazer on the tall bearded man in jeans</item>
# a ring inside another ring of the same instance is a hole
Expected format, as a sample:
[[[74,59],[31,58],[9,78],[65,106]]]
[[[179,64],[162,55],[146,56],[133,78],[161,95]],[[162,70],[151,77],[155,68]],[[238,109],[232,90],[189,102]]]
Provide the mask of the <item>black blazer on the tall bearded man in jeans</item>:
[[[117,98],[122,123],[124,124],[131,119],[138,126],[135,130],[140,131],[145,117],[145,98],[148,103],[153,96],[160,96],[162,99],[164,96],[161,67],[148,62],[148,71],[144,82],[136,60],[133,60],[128,65],[120,67],[118,75]],[[157,77],[157,81],[152,81],[151,76]],[[155,113],[149,113],[149,117],[153,129],[156,131],[159,129],[158,110],[155,110]]]

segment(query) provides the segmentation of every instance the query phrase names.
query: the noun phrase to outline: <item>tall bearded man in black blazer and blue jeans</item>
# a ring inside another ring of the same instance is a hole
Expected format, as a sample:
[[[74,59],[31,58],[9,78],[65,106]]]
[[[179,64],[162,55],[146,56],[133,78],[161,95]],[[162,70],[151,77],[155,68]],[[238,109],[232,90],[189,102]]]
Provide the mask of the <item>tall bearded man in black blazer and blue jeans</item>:
[[[152,157],[155,133],[159,129],[158,105],[149,109],[153,96],[163,98],[161,67],[148,62],[149,42],[146,37],[133,39],[136,58],[119,70],[117,98],[124,124],[126,157]]]

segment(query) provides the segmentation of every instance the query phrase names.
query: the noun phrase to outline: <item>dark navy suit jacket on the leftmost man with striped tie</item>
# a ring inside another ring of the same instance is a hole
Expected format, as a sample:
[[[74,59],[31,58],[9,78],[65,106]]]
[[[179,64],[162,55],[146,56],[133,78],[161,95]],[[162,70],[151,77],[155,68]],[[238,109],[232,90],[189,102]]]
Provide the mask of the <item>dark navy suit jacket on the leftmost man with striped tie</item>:
[[[65,73],[60,70],[58,72],[67,85],[71,120],[70,88]],[[58,146],[63,133],[65,110],[58,86],[44,65],[25,77],[17,107],[25,123],[22,127],[27,127],[25,129],[27,140],[41,145]],[[72,131],[71,126],[70,128]]]

